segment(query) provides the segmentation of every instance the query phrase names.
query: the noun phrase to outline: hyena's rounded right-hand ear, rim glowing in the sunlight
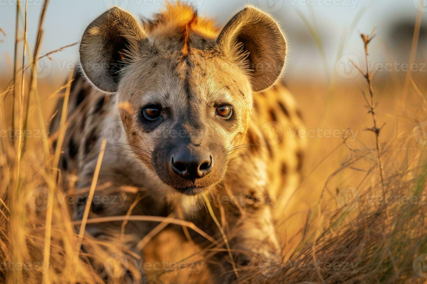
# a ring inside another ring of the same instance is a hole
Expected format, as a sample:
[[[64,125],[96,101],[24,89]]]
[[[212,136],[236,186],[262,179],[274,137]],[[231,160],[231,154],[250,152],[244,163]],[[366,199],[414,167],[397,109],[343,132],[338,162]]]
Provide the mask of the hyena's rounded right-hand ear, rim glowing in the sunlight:
[[[225,25],[217,45],[226,55],[250,70],[252,90],[262,91],[276,82],[286,56],[286,40],[269,15],[252,7],[238,12]]]

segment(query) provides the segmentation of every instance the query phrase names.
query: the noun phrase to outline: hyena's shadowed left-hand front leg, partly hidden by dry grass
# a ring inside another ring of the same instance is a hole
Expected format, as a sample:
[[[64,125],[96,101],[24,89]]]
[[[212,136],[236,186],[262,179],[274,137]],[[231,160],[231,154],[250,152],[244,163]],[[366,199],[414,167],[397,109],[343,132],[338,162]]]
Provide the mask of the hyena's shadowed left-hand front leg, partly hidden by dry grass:
[[[98,187],[102,187],[99,183]],[[165,216],[158,198],[149,192],[129,192],[129,189],[109,187],[96,191],[88,204],[87,191],[78,193],[74,204],[74,219],[82,220],[85,207],[91,206],[88,219],[126,215]],[[107,283],[146,283],[143,255],[138,242],[158,223],[145,221],[107,221],[88,224],[82,252],[91,258],[98,275]],[[76,227],[79,231],[79,226]]]

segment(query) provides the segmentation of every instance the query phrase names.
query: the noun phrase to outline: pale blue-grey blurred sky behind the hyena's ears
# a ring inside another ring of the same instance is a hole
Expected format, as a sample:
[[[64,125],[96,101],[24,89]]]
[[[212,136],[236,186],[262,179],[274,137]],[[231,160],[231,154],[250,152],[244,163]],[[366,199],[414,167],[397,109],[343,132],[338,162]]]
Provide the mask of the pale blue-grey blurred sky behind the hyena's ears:
[[[8,57],[13,58],[15,30],[15,2],[0,0],[0,27],[6,32],[0,34],[0,68],[3,74],[10,74]],[[166,0],[51,0],[44,22],[44,38],[41,54],[80,40],[85,27],[103,11],[116,4],[131,11],[135,16],[150,17],[164,6]],[[342,33],[347,34],[342,55],[356,55],[363,58],[363,49],[358,31],[369,33],[377,27],[377,40],[372,43],[372,54],[382,58],[387,49],[387,32],[396,20],[407,18],[415,21],[418,0],[184,0],[192,3],[199,11],[214,17],[218,24],[225,24],[238,9],[245,4],[260,7],[279,21],[287,34],[289,53],[287,57],[287,75],[289,76],[325,76],[322,57],[316,41],[308,32],[301,14],[319,32],[325,49],[328,70],[335,69],[336,57]],[[426,2],[427,0],[422,0]],[[28,40],[34,47],[38,16],[42,0],[28,2]],[[427,6],[426,6],[427,7]],[[424,9],[424,18],[427,9]],[[349,32],[354,19],[362,13],[353,32]],[[425,23],[425,20],[423,21]],[[376,45],[376,46],[375,46]],[[422,52],[422,51],[421,51]],[[394,56],[394,55],[392,55]],[[402,55],[400,55],[402,57]],[[405,57],[405,55],[403,55]],[[409,57],[409,55],[408,55]],[[67,64],[76,63],[78,46],[52,55],[52,70],[64,70]],[[320,75],[319,75],[320,74]]]

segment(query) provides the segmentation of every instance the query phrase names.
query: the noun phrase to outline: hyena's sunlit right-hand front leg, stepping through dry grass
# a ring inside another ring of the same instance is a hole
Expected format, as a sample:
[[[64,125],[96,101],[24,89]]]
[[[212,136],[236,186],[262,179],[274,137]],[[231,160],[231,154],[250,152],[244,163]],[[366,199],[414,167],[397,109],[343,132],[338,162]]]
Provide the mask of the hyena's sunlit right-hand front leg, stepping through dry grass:
[[[225,233],[233,260],[230,258],[222,233],[205,208],[198,210],[197,217],[189,220],[221,243],[219,250],[211,250],[208,253],[209,268],[214,275],[221,275],[216,278],[219,283],[236,280],[234,268],[237,274],[242,275],[242,271],[247,268],[258,267],[260,261],[269,262],[270,258],[276,259],[280,255],[281,250],[273,225],[272,206],[266,204],[262,198],[263,196],[257,194],[241,192],[233,193],[232,196],[218,195],[211,202],[215,216]],[[195,235],[195,238],[198,237]]]

